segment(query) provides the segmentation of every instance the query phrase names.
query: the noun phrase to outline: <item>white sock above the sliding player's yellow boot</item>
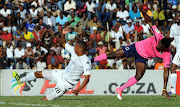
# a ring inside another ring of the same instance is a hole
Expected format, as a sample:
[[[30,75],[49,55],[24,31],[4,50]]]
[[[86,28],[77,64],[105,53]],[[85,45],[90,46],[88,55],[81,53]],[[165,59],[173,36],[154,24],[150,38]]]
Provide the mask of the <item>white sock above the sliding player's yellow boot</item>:
[[[27,82],[36,79],[34,72],[27,73],[25,77],[20,78],[19,82]]]

